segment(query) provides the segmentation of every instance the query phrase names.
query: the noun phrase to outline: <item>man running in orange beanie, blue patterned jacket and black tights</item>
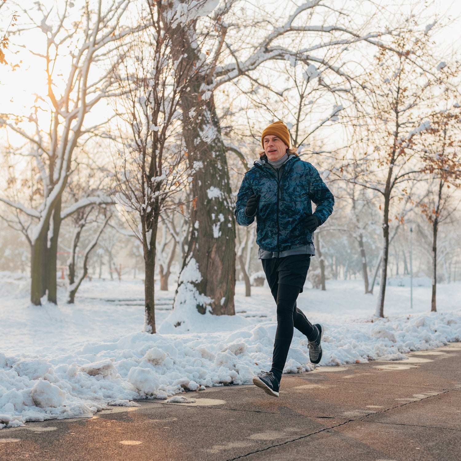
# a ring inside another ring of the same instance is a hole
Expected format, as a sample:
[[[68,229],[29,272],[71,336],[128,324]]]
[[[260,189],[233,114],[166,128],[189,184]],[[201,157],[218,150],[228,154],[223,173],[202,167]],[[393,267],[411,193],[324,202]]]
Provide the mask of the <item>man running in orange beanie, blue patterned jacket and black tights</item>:
[[[278,397],[293,328],[306,335],[310,361],[318,364],[322,358],[324,328],[309,322],[296,307],[296,299],[315,254],[313,232],[330,216],[335,201],[319,172],[290,148],[290,133],[283,122],[267,126],[261,144],[260,159],[243,177],[235,216],[242,226],[256,218],[258,254],[277,303],[272,368],[255,376],[253,383]],[[314,213],[311,201],[316,205]]]

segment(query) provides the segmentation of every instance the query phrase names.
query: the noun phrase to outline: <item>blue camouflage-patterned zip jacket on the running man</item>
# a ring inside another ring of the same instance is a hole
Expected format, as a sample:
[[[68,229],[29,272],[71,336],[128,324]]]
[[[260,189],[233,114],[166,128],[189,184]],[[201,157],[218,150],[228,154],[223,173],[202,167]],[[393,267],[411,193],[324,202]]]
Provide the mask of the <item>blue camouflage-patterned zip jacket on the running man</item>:
[[[235,217],[237,223],[248,226],[256,218],[256,243],[266,251],[285,251],[313,242],[304,220],[313,213],[323,224],[333,212],[335,199],[313,165],[299,157],[291,157],[284,169],[270,170],[265,160],[254,166],[243,177],[237,194]],[[261,199],[256,215],[245,214],[247,201],[253,194]]]

